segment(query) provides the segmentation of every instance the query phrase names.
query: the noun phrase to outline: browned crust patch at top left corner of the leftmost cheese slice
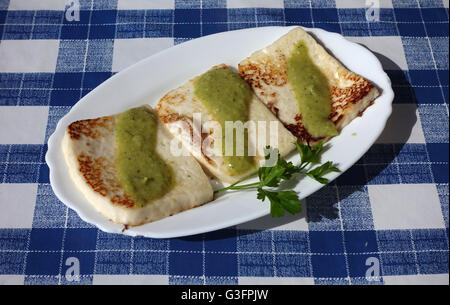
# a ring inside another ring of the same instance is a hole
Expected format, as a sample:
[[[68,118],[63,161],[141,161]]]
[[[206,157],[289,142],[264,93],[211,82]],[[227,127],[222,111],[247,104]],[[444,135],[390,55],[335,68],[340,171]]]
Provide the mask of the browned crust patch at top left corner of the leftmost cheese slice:
[[[79,140],[81,136],[96,139],[103,136],[102,128],[112,130],[114,127],[114,118],[112,116],[101,117],[97,119],[81,120],[70,124],[67,132],[72,140]]]

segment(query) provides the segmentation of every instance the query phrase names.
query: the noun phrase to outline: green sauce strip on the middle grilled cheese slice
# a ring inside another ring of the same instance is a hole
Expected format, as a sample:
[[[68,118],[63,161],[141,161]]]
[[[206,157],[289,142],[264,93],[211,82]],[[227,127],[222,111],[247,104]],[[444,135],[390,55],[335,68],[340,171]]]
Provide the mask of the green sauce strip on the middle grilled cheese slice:
[[[254,169],[255,160],[248,156],[247,129],[244,131],[244,156],[236,156],[234,152],[233,156],[225,156],[225,122],[248,121],[248,104],[253,94],[250,86],[229,69],[214,69],[195,81],[194,94],[222,126],[222,153],[228,173],[235,176]],[[236,135],[233,136],[235,146]]]

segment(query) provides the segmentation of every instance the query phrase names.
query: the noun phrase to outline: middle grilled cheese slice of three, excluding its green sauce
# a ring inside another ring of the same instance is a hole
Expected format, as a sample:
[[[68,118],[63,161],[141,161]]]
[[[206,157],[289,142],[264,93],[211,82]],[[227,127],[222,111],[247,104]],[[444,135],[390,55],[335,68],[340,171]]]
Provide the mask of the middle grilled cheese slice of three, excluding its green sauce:
[[[212,67],[209,71],[217,69],[231,70],[228,66],[222,64]],[[241,80],[237,73],[233,73]],[[168,92],[160,99],[156,109],[169,131],[181,140],[185,147],[211,175],[222,182],[234,183],[257,170],[260,161],[264,159],[264,148],[266,145],[277,148],[281,156],[285,156],[295,149],[294,143],[296,142],[296,138],[261,103],[258,97],[251,91],[251,88],[249,88],[251,99],[248,102],[247,122],[254,124],[248,125],[248,134],[254,136],[249,136],[248,141],[250,142],[250,146],[254,147],[255,168],[237,175],[230,174],[227,171],[227,164],[224,157],[220,156],[219,148],[214,145],[214,143],[222,141],[221,135],[216,132],[216,128],[220,128],[220,124],[217,122],[217,118],[205,108],[204,104],[202,104],[198,96],[194,93],[194,84],[199,78],[200,76],[197,76]],[[243,84],[245,84],[244,81]],[[226,107],[232,109],[234,106],[233,103],[229,103]],[[195,123],[196,114],[200,114],[199,124]],[[180,132],[182,129],[185,132]],[[196,135],[198,139],[203,141],[201,149],[198,149],[199,146],[195,140]],[[205,141],[206,137],[209,138],[208,141]],[[259,139],[263,140],[260,141]],[[195,148],[195,143],[197,143],[197,149]],[[207,154],[207,151],[212,153]]]

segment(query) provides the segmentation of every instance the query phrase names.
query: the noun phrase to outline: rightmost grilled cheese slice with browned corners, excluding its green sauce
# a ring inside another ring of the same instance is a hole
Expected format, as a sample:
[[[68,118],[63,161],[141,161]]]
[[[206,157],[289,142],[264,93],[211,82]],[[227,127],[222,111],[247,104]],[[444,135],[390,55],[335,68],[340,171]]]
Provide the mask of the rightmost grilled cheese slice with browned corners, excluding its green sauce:
[[[379,92],[370,81],[347,70],[301,27],[292,29],[273,44],[241,61],[239,73],[260,100],[300,141],[315,144],[330,137],[314,138],[306,130],[293,88],[287,80],[288,58],[300,41],[307,46],[309,57],[328,81],[332,108],[329,119],[338,132],[361,115]]]

